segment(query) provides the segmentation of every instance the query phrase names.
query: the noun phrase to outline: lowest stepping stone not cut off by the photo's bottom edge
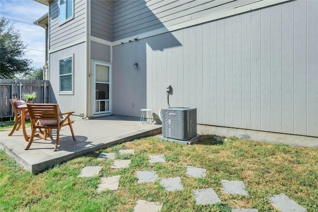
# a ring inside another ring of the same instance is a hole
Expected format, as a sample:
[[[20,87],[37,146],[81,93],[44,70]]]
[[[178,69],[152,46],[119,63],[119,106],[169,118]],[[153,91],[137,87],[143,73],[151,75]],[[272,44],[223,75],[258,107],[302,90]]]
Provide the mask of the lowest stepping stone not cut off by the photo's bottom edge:
[[[196,205],[213,205],[222,203],[212,188],[193,190]]]

